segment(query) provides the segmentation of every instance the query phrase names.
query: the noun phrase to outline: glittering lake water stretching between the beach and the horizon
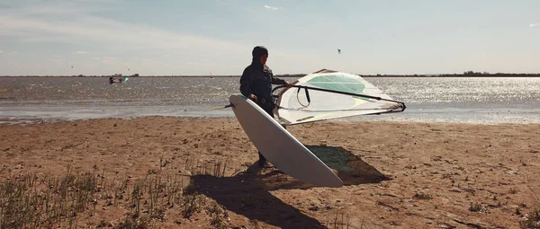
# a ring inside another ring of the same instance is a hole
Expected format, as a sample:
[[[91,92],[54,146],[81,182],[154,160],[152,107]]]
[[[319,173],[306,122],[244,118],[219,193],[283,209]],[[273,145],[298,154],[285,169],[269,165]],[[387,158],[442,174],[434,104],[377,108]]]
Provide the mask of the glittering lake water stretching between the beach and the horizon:
[[[296,78],[284,78],[293,82]],[[366,77],[407,110],[355,120],[540,123],[540,78]],[[234,117],[211,110],[238,94],[238,77],[0,77],[0,123],[134,118]],[[347,119],[350,120],[350,119]]]

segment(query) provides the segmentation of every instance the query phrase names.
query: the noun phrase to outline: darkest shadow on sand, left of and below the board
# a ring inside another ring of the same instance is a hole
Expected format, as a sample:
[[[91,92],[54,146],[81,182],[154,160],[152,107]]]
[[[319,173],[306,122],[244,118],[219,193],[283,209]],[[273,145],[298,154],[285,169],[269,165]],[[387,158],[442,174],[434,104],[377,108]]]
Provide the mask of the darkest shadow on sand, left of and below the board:
[[[247,169],[248,172],[233,177],[195,175],[192,177],[193,186],[227,210],[250,220],[279,228],[327,228],[268,192],[264,181],[257,179],[257,167],[254,164]]]

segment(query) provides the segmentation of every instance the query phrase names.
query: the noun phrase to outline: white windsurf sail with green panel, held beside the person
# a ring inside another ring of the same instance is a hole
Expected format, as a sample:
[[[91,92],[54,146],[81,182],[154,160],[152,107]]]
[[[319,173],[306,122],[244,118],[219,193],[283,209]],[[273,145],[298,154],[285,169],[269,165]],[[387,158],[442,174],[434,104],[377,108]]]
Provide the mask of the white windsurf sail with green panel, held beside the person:
[[[282,89],[280,92],[278,90]],[[275,115],[284,125],[405,110],[405,103],[365,81],[359,75],[322,69],[275,87]]]

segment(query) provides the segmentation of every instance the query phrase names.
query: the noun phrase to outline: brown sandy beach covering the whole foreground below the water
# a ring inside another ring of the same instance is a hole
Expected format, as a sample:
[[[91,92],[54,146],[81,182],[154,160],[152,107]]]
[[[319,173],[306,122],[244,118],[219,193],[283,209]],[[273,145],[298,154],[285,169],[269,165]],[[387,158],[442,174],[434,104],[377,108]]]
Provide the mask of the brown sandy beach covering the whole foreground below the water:
[[[52,178],[89,172],[93,204],[71,223],[81,228],[121,228],[127,218],[161,228],[518,228],[540,207],[537,124],[320,122],[288,130],[346,185],[313,187],[273,167],[257,170],[257,149],[236,119],[148,117],[0,126],[0,187],[33,176],[47,192]],[[156,185],[134,203],[140,181]]]

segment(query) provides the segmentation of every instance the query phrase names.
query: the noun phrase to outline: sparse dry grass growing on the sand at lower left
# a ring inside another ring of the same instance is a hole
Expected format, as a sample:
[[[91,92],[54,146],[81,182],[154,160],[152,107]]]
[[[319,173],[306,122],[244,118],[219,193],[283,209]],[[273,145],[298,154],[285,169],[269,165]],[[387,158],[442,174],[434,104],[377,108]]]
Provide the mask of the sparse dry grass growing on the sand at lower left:
[[[102,219],[96,227],[151,228],[164,222],[167,209],[173,207],[179,207],[183,217],[190,218],[207,206],[206,198],[193,187],[193,175],[223,177],[226,167],[227,161],[202,162],[193,158],[184,166],[190,175],[171,172],[172,168],[164,165],[162,170],[135,180],[129,176],[109,177],[112,174],[96,170],[73,172],[69,168],[58,177],[7,177],[0,181],[0,228],[77,228],[83,220],[95,216],[96,209],[105,207],[121,207],[127,213],[114,223]],[[226,228],[223,217],[227,212],[223,207],[212,202],[207,212],[211,225]]]

